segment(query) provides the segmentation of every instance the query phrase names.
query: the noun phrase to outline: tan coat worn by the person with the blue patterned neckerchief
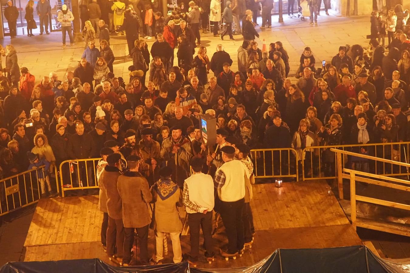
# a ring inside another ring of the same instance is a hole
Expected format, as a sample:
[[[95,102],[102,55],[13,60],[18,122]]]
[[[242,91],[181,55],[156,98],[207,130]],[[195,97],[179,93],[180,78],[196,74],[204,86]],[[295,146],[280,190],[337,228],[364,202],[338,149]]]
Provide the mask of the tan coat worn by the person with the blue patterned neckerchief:
[[[168,199],[162,200],[158,196],[155,186],[156,184],[151,187],[155,215],[152,228],[158,232],[180,232],[182,229],[182,222],[178,212],[178,207],[182,207],[182,192],[180,188]]]

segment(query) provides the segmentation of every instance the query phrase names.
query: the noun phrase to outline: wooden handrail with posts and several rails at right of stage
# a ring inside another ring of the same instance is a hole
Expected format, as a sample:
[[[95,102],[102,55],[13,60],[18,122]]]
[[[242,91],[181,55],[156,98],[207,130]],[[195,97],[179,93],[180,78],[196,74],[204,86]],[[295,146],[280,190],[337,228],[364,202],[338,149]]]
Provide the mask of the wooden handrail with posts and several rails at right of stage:
[[[342,151],[339,149],[331,149],[331,151],[335,152],[337,154],[337,158],[341,158],[342,154],[346,156],[355,156],[357,158],[362,158],[364,160],[374,160],[377,162],[383,162],[391,165],[397,165],[399,167],[405,167],[409,168],[410,164],[408,163],[403,163],[403,162],[398,162],[395,160],[389,160],[389,159],[384,159],[384,158],[377,158],[374,156],[367,156],[363,155],[360,153],[352,153],[348,151]],[[404,235],[404,236],[410,236],[410,232],[405,229],[396,229],[393,228],[392,226],[381,226],[377,222],[373,223],[372,221],[362,221],[361,219],[357,219],[357,210],[356,210],[356,201],[362,201],[366,203],[372,203],[376,205],[383,205],[386,207],[390,208],[399,208],[402,210],[409,210],[410,211],[410,205],[403,204],[403,203],[396,203],[392,201],[387,201],[387,200],[382,200],[382,199],[377,199],[377,198],[371,198],[368,196],[362,196],[356,194],[356,181],[362,182],[362,183],[368,183],[368,184],[373,184],[373,185],[378,185],[380,187],[388,187],[396,190],[403,190],[405,192],[410,191],[410,182],[408,180],[403,180],[399,178],[394,178],[394,177],[388,177],[388,176],[382,176],[378,174],[371,174],[369,172],[364,172],[364,171],[358,171],[354,169],[349,169],[349,168],[343,168],[341,169],[341,165],[338,164],[338,169],[339,172],[341,173],[338,178],[339,178],[339,192],[343,192],[343,183],[342,179],[349,179],[350,180],[350,204],[351,204],[351,221],[352,221],[352,226],[356,229],[356,227],[362,227],[362,228],[369,228],[369,229],[374,229],[374,230],[380,230],[383,232],[390,232],[390,233],[395,233],[399,235]],[[342,197],[343,199],[343,197]]]

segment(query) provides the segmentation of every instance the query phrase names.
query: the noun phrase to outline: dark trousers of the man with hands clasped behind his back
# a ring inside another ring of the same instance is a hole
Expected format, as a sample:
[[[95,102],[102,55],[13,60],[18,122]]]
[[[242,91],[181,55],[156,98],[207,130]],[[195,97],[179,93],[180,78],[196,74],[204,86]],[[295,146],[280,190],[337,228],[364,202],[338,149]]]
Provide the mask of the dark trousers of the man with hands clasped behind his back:
[[[202,228],[205,244],[205,257],[214,256],[214,241],[212,239],[212,211],[203,213],[188,213],[188,226],[189,226],[189,240],[191,243],[191,257],[192,262],[198,260],[199,255],[199,228]]]

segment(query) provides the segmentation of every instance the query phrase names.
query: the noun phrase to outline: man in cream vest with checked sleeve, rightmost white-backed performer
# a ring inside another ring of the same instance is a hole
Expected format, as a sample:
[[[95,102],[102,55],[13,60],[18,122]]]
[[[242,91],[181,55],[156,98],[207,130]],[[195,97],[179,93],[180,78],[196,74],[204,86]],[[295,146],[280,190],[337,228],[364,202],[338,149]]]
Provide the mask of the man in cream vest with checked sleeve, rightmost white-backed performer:
[[[223,257],[236,256],[244,248],[244,223],[242,209],[245,201],[244,164],[235,158],[235,148],[224,146],[221,149],[223,165],[216,170],[214,187],[219,199],[219,213],[228,236],[228,248],[221,248]]]

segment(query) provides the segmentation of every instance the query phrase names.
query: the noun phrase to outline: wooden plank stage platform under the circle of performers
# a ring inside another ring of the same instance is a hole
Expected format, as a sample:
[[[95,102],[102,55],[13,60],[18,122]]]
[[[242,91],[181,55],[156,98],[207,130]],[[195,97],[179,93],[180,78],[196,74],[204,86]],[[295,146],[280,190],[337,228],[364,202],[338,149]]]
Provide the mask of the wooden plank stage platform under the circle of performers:
[[[208,264],[200,258],[198,268],[249,266],[276,248],[327,248],[362,244],[335,196],[327,194],[325,181],[253,186],[251,203],[255,239],[251,249],[236,260],[225,262],[216,255]],[[103,214],[98,196],[41,199],[36,207],[25,241],[24,261],[100,258],[110,263],[100,243]],[[185,215],[185,212],[182,212]],[[215,251],[227,243],[222,222],[214,235]],[[202,238],[201,238],[202,240]],[[153,254],[153,231],[149,251]],[[202,245],[202,241],[200,243]],[[189,235],[181,237],[182,252],[189,252]],[[172,245],[164,263],[172,262]],[[201,250],[203,253],[203,250]],[[135,262],[135,261],[134,261]],[[114,264],[113,264],[114,265]]]

